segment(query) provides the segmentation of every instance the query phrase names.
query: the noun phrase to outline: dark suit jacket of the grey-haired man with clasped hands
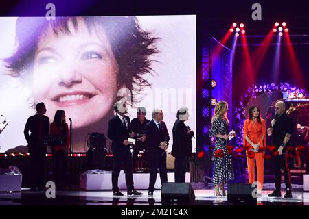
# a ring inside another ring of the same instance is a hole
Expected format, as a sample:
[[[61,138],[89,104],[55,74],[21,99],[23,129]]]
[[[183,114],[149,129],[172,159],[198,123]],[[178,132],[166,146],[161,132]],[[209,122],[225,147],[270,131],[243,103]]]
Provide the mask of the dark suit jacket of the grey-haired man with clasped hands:
[[[148,146],[148,157],[151,159],[156,155],[161,155],[163,153],[163,149],[160,149],[161,142],[168,142],[170,140],[170,136],[168,135],[168,129],[163,121],[161,121],[161,131],[155,124],[154,120],[151,120],[146,124],[146,138],[147,138],[147,146]]]

